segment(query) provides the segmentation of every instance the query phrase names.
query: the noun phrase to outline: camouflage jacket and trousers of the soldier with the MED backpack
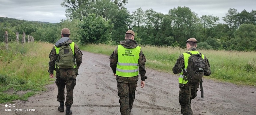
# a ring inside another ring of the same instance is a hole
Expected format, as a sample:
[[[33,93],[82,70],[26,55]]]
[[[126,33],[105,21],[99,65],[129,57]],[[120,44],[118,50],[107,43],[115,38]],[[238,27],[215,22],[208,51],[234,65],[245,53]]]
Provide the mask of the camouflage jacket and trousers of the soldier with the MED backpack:
[[[189,48],[188,51],[197,51],[195,47]],[[206,56],[204,56],[204,62],[205,62],[205,70],[204,70],[204,75],[210,75],[211,70],[210,70],[210,64],[208,62],[208,59]],[[179,74],[181,73],[181,68],[184,68],[184,56],[181,54],[175,63],[174,67],[172,68],[172,71],[174,74]],[[190,97],[190,90],[189,86],[191,87],[191,96]],[[197,96],[197,88],[199,88],[199,83],[196,85],[190,85],[190,84],[182,84],[179,83],[179,103],[181,105],[181,114],[182,115],[193,115],[193,111],[191,109],[191,100],[196,98]]]

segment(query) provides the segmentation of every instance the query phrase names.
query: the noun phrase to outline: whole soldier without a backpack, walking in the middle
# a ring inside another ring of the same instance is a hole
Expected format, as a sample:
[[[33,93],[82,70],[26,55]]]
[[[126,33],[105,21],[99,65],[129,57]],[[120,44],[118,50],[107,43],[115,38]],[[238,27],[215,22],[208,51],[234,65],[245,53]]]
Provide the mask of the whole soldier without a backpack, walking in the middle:
[[[117,91],[120,97],[120,112],[122,115],[130,115],[135,99],[135,90],[139,74],[141,77],[141,88],[145,86],[145,62],[146,58],[141,47],[134,41],[135,33],[128,30],[125,40],[120,41],[111,56],[110,67],[117,78]],[[139,65],[139,68],[138,68]]]

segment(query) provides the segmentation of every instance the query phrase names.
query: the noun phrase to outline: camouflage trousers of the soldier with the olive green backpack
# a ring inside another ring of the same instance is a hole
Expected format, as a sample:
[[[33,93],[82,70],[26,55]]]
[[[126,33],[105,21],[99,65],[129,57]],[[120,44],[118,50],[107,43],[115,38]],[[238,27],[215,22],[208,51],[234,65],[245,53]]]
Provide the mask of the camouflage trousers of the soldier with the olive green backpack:
[[[58,86],[57,101],[65,101],[65,86],[67,84],[67,96],[66,96],[65,105],[72,105],[73,104],[73,90],[76,85],[76,79],[63,80],[63,79],[57,78],[55,83]]]

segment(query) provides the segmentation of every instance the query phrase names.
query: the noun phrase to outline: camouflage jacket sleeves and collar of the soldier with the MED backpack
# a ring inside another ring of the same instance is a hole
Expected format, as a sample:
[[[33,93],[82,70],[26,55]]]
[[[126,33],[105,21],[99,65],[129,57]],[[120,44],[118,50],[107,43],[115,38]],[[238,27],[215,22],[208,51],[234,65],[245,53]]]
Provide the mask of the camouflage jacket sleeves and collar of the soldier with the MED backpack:
[[[195,47],[191,47],[188,49],[188,51],[197,51],[197,49]],[[204,62],[205,62],[205,70],[204,70],[204,75],[209,76],[211,74],[211,70],[210,70],[210,64],[208,59],[206,58],[206,56],[204,56]],[[179,58],[177,59],[177,62],[175,63],[174,67],[172,68],[172,72],[174,74],[179,74],[181,73],[181,68],[184,68],[184,56],[183,54],[181,54],[179,56]]]

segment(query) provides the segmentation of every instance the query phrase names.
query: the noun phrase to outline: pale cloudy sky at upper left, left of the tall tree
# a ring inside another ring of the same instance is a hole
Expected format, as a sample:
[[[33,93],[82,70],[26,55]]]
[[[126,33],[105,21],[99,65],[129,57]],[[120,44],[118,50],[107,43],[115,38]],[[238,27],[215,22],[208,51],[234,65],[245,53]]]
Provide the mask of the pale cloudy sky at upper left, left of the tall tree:
[[[66,19],[62,0],[0,0],[1,17],[59,23]]]

